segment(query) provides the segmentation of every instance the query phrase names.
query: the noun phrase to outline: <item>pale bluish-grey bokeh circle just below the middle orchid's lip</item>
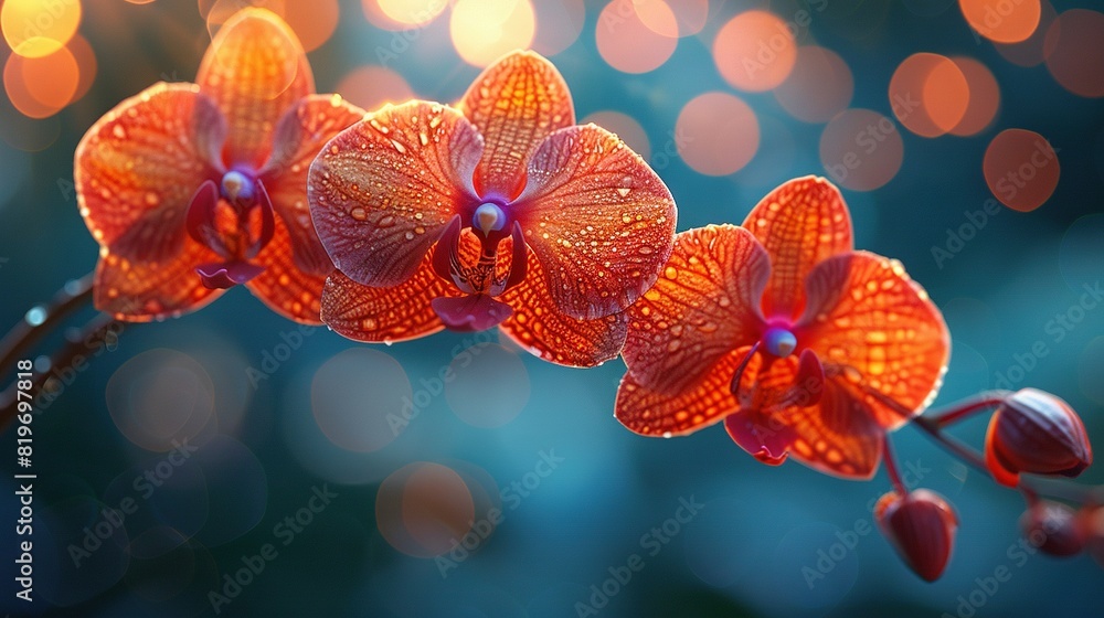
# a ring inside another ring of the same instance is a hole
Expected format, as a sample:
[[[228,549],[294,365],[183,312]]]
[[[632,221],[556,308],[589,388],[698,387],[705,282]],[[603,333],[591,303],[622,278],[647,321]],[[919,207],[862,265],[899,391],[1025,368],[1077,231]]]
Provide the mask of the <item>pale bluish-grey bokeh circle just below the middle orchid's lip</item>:
[[[468,425],[501,427],[529,403],[529,371],[513,352],[495,343],[476,343],[448,365],[448,407]]]

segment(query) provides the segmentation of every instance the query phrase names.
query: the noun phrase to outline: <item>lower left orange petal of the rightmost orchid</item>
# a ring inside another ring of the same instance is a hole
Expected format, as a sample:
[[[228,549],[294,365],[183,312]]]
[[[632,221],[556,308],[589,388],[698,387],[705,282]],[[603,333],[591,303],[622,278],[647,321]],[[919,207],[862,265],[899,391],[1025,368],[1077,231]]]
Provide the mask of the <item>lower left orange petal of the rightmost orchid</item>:
[[[740,407],[730,384],[749,350],[730,351],[698,382],[677,393],[654,391],[625,374],[614,404],[617,420],[637,434],[657,437],[692,434],[716,423]]]

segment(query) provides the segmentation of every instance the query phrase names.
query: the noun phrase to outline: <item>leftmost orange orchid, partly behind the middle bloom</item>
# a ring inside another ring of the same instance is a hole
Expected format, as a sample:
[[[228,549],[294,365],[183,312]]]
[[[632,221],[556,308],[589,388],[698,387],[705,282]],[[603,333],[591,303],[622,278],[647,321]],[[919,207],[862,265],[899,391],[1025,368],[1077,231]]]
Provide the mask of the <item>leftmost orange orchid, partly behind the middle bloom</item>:
[[[276,312],[320,323],[333,266],[310,221],[307,171],[363,110],[312,94],[302,46],[263,9],[223,25],[195,81],[123,102],[76,149],[81,214],[100,245],[96,307],[161,319],[244,284]]]

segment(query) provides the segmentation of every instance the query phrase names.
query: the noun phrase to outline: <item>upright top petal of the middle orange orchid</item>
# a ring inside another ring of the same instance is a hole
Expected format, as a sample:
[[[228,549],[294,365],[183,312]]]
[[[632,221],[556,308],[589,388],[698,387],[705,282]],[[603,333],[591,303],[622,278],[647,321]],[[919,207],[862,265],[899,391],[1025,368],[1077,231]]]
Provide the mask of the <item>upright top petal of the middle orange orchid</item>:
[[[458,107],[487,142],[476,170],[476,191],[505,201],[526,187],[526,162],[537,146],[575,124],[567,84],[534,52],[513,52],[487,67]]]

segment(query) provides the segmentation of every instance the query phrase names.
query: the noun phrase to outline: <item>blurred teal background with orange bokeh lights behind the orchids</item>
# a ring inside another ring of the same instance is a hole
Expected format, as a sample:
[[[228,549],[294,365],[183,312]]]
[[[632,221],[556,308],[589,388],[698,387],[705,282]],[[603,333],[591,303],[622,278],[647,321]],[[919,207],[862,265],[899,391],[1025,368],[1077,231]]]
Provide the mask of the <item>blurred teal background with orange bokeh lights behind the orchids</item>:
[[[0,324],[95,265],[72,188],[83,132],[157,81],[191,81],[211,33],[250,3],[4,2]],[[367,108],[453,102],[506,51],[548,55],[578,117],[665,179],[680,231],[739,223],[792,177],[829,177],[857,246],[901,259],[946,316],[954,349],[936,405],[1037,386],[1104,441],[1104,302],[1085,296],[1104,278],[1097,4],[252,3],[296,30],[319,92]],[[1021,499],[911,428],[894,436],[902,466],[962,523],[935,584],[872,532],[883,473],[768,468],[720,427],[638,437],[613,418],[623,372],[553,366],[496,333],[355,344],[284,321],[244,289],[127,326],[35,416],[36,600],[15,599],[6,575],[0,606],[408,618],[1104,606],[1090,557],[1023,551]],[[980,418],[956,430],[975,445],[984,431]],[[11,431],[3,444],[14,451]],[[0,457],[4,470],[13,459]],[[1098,468],[1082,480],[1104,482]],[[6,574],[15,489],[0,479]],[[1010,579],[990,584],[1002,567]]]

